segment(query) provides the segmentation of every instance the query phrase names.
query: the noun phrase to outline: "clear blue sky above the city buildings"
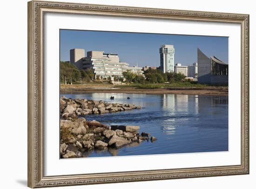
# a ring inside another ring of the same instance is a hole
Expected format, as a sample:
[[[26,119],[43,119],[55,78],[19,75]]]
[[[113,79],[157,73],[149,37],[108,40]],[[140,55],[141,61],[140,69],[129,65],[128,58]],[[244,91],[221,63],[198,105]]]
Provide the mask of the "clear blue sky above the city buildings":
[[[60,43],[61,61],[68,61],[69,50],[78,48],[117,53],[120,61],[130,66],[160,66],[160,45],[173,44],[175,63],[197,62],[197,47],[208,57],[214,55],[228,63],[228,37],[61,30]]]

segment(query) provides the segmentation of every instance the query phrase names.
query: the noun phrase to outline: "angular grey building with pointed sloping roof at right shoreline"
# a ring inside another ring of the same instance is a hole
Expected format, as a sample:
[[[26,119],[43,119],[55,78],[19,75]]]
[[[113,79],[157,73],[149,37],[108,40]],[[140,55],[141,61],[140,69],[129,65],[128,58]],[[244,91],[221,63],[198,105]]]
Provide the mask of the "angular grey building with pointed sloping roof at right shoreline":
[[[198,82],[205,84],[229,84],[229,64],[215,56],[207,57],[197,48]]]

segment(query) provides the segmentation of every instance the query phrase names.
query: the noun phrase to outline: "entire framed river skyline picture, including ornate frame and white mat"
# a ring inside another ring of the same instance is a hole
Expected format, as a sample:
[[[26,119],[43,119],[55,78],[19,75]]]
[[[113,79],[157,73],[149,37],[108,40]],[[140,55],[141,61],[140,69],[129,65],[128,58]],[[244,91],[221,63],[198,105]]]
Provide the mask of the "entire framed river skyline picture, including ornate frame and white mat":
[[[28,186],[249,174],[249,15],[28,2]]]

